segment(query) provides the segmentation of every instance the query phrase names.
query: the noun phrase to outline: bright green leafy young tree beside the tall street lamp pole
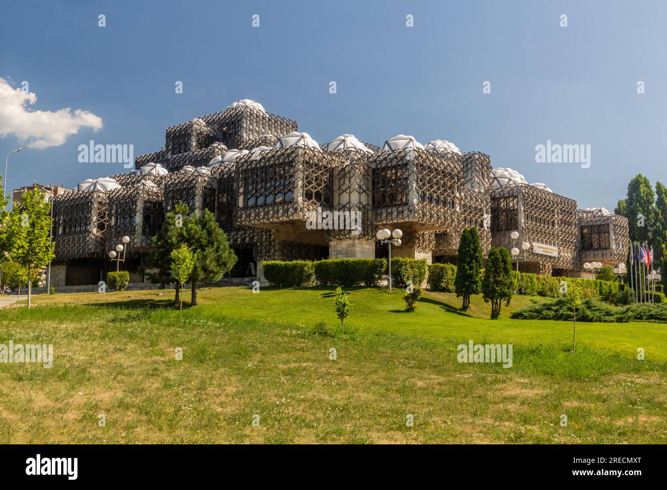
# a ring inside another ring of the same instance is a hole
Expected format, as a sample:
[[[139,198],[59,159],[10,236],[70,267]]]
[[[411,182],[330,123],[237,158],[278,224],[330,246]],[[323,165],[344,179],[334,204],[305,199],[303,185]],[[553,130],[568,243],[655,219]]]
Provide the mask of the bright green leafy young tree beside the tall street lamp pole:
[[[19,205],[11,210],[9,219],[9,255],[27,269],[28,279],[32,279],[53,259],[55,244],[51,240],[51,203],[39,189],[28,191],[21,196]],[[32,282],[28,280],[28,308],[31,306]]]

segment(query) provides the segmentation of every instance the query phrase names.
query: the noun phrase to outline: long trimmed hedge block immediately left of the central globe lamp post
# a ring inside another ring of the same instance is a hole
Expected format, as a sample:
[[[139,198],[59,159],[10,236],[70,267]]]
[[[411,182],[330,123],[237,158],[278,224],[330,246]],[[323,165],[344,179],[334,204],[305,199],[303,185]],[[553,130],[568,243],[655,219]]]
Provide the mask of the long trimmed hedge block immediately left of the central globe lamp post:
[[[315,262],[315,279],[323,286],[377,286],[386,273],[386,259],[327,259]]]

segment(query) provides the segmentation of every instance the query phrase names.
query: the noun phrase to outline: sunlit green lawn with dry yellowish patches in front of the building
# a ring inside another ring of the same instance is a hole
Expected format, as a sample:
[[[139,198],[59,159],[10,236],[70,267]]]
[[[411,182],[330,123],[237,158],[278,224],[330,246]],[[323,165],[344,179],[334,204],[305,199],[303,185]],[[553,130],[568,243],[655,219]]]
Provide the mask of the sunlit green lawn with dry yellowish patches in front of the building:
[[[54,366],[0,364],[0,443],[663,443],[662,323],[488,320],[479,297],[333,289],[41,295],[0,312],[0,343],[52,343]],[[316,327],[323,321],[325,326]],[[511,369],[460,343],[514,345]],[[175,359],[175,349],[183,359]],[[645,361],[636,353],[642,347]],[[329,359],[336,349],[335,361]],[[98,415],[106,427],[98,426]],[[259,427],[253,427],[253,415]],[[414,426],[406,426],[406,416]],[[568,425],[560,426],[561,415]]]

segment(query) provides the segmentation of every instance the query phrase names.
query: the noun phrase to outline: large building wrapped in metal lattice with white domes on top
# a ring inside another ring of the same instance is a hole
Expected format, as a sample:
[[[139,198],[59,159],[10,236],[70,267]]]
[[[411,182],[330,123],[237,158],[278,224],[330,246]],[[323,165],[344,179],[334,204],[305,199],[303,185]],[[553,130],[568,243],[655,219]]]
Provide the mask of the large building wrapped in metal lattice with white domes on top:
[[[374,257],[384,227],[404,232],[396,256],[453,261],[468,226],[477,227],[484,255],[522,241],[558,249],[557,257],[520,255],[522,270],[539,273],[576,273],[585,260],[619,263],[628,253],[626,219],[577,211],[574,200],[510,169],[498,177],[484,153],[404,135],[382,149],[353,135],[319,145],[247,99],[167,128],[164,147],[135,167],[55,197],[59,263],[107,263],[125,235],[127,253],[144,256],[178,202],[214,213],[251,261]],[[331,217],[351,226],[329,227]]]

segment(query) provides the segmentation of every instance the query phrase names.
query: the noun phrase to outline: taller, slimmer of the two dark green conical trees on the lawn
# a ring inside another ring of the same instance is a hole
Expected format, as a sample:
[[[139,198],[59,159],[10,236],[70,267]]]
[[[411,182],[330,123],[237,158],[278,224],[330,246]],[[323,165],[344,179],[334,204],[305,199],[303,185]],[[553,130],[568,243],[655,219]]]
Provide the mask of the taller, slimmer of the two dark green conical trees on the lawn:
[[[470,295],[480,293],[482,265],[480,235],[476,227],[468,227],[461,235],[456,261],[456,278],[454,279],[456,297],[463,297],[461,311],[466,311],[470,306]]]

